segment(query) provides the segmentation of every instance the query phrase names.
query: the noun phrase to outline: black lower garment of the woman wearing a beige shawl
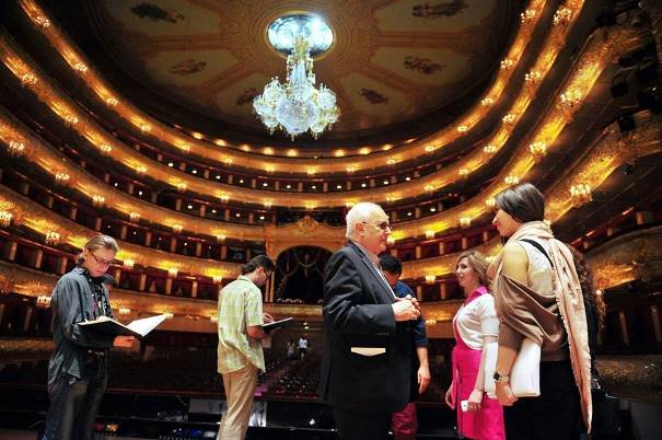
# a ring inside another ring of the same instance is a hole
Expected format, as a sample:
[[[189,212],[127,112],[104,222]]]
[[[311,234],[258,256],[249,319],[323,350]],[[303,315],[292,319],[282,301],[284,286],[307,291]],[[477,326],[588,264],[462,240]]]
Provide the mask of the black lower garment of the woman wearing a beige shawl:
[[[576,440],[583,428],[569,360],[541,362],[541,395],[503,407],[508,440]]]

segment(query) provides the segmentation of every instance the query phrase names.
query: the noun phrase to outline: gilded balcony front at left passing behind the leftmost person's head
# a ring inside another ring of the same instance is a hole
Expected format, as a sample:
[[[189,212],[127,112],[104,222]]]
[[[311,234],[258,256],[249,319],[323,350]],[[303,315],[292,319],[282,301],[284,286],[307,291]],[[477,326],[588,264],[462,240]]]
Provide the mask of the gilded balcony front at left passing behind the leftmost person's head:
[[[79,250],[83,247],[92,235],[100,233],[62,218],[2,185],[0,185],[0,209],[12,213],[13,224],[18,227],[24,225],[44,236],[55,232],[59,234],[59,243],[67,243]],[[179,273],[201,275],[210,278],[233,278],[240,273],[239,264],[172,254],[119,240],[118,243],[120,251],[117,254],[117,259],[123,262],[132,260],[135,264],[146,267],[163,270],[176,269]]]

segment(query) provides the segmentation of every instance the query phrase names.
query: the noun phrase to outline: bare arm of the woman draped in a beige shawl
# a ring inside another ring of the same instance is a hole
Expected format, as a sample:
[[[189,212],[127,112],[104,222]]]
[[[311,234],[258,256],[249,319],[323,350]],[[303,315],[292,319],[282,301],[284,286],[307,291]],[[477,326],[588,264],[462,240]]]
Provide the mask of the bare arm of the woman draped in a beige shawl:
[[[529,256],[521,244],[508,244],[503,248],[503,275],[529,285]],[[502,325],[503,327],[503,325]],[[511,347],[504,347],[499,344],[499,354],[497,355],[497,371],[501,375],[510,375],[510,370],[518,355]],[[497,382],[497,397],[501,405],[510,406],[518,398],[512,394],[509,382]]]

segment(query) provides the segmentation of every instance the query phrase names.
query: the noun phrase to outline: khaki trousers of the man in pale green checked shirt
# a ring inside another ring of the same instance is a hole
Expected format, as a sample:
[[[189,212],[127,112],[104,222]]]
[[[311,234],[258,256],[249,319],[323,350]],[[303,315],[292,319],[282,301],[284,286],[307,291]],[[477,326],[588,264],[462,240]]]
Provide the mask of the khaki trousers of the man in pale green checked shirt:
[[[253,409],[257,368],[251,364],[222,375],[228,413],[221,420],[217,440],[244,440]]]

